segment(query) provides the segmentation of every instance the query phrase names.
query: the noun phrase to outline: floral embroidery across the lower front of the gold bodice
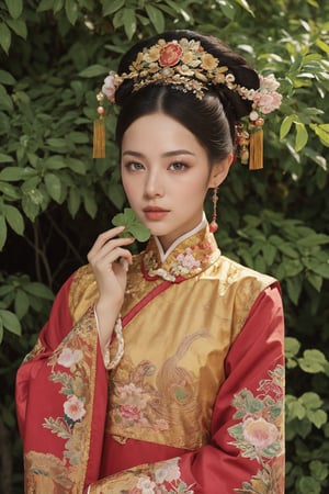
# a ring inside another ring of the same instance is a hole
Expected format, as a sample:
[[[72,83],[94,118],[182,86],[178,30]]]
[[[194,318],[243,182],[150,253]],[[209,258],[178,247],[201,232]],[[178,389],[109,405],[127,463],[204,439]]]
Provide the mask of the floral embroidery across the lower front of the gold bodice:
[[[107,431],[112,437],[141,439],[147,431],[149,440],[192,450],[207,440],[197,378],[181,363],[191,345],[196,347],[207,337],[203,329],[186,335],[159,367],[149,360],[134,366],[126,352],[120,372],[111,377]]]

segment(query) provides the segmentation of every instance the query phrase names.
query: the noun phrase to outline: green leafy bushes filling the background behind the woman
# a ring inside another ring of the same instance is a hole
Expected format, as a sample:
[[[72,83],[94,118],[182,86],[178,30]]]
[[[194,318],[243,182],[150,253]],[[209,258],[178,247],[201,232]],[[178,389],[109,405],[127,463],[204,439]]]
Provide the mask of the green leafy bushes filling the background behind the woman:
[[[316,0],[0,0],[0,491],[21,493],[14,377],[53,293],[126,205],[107,114],[91,158],[95,92],[136,40],[215,34],[281,81],[265,168],[220,189],[218,243],[282,283],[286,314],[286,493],[329,489],[329,3]]]

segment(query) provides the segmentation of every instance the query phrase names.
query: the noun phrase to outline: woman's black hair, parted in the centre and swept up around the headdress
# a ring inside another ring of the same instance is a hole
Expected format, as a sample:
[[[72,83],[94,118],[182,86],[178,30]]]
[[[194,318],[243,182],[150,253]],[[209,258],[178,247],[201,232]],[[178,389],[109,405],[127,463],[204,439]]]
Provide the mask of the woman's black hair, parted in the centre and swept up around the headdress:
[[[228,67],[240,86],[259,88],[258,74],[243,57],[214,36],[183,30],[168,31],[134,45],[121,60],[118,74],[128,72],[137,54],[144,47],[156,44],[159,38],[170,42],[182,37],[200,41],[207,53],[218,58],[222,66]],[[115,93],[115,101],[122,106],[116,126],[120,147],[125,131],[136,119],[162,112],[194,134],[213,164],[226,158],[231,151],[235,145],[235,124],[251,111],[250,101],[243,100],[225,85],[211,87],[200,100],[191,91],[183,92],[181,87],[149,85],[133,91],[133,83],[132,80],[125,80]]]

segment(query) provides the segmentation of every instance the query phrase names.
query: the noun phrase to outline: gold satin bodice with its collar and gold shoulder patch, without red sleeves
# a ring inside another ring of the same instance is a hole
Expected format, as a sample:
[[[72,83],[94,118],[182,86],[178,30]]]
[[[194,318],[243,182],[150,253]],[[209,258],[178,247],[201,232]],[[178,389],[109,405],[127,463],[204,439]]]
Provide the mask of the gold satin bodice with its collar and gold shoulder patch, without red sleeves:
[[[123,321],[132,310],[136,314],[124,326],[125,353],[109,377],[106,431],[121,442],[134,438],[189,450],[206,444],[227,352],[273,282],[222,256],[208,228],[163,262],[152,239],[129,268]],[[152,296],[155,290],[160,293]],[[91,271],[82,268],[71,289],[73,318],[95,297]]]

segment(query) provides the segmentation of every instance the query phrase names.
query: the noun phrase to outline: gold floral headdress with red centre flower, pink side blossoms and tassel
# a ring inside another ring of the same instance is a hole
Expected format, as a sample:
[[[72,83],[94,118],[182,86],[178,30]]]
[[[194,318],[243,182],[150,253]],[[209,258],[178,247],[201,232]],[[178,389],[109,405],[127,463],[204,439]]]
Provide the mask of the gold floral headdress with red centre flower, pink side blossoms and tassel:
[[[276,91],[280,83],[273,74],[266,77],[259,76],[259,89],[248,89],[238,85],[228,67],[222,66],[218,58],[207,53],[200,41],[183,37],[166,42],[161,38],[157,44],[144,48],[137,54],[136,59],[129,66],[129,71],[121,75],[111,71],[105,78],[102,91],[98,94],[99,120],[103,120],[104,97],[115,103],[115,92],[127,79],[133,80],[133,91],[138,91],[152,83],[174,86],[184,92],[193,92],[197,99],[202,99],[211,87],[218,85],[224,85],[229,90],[237,92],[241,99],[252,103],[252,111],[249,114],[251,136],[243,131],[241,137],[241,123],[238,123],[236,132],[238,155],[242,162],[249,160],[251,169],[262,168],[261,127],[264,123],[263,115],[277,110],[282,102],[282,94]],[[251,138],[249,139],[249,137]],[[246,139],[250,145],[250,151]]]

